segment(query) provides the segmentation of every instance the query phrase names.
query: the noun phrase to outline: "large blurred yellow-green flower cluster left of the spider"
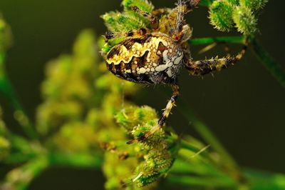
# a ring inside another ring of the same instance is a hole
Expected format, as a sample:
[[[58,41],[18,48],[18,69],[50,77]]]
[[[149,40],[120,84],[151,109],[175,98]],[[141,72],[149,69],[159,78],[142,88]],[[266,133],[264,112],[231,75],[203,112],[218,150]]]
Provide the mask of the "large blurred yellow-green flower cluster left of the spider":
[[[73,55],[48,63],[36,126],[42,135],[51,135],[48,143],[55,149],[98,149],[100,139],[105,139],[100,130],[112,129],[113,116],[121,109],[123,88],[126,95],[135,92],[134,84],[105,74],[95,44],[92,31],[83,31]]]

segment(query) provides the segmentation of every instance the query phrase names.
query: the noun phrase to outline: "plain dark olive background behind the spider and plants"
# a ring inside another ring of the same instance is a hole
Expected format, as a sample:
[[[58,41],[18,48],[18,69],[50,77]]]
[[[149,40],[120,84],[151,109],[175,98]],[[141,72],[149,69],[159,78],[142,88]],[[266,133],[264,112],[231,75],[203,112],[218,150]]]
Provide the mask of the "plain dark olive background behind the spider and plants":
[[[152,2],[155,6],[175,4],[175,1]],[[258,35],[261,44],[283,68],[284,5],[285,1],[269,1],[259,16]],[[0,0],[0,11],[14,34],[14,46],[6,63],[9,77],[31,117],[41,103],[39,89],[46,62],[59,54],[70,53],[82,29],[91,28],[96,34],[103,34],[105,26],[99,16],[115,9],[121,10],[120,1]],[[187,16],[194,28],[193,37],[223,35],[212,29],[207,15],[207,9],[200,7]],[[192,49],[194,58],[205,56],[197,55],[201,48]],[[223,54],[210,51],[207,55],[218,53]],[[285,90],[251,49],[239,64],[214,77],[201,79],[182,71],[180,85],[180,98],[210,126],[239,164],[285,173]],[[168,94],[163,91],[163,87],[145,88],[136,101],[160,110],[170,96],[170,91]],[[11,109],[3,98],[0,103],[7,125],[13,126]],[[177,109],[172,112],[169,122],[179,133],[197,136]],[[31,184],[31,189],[103,189],[103,180],[98,171],[49,169]]]

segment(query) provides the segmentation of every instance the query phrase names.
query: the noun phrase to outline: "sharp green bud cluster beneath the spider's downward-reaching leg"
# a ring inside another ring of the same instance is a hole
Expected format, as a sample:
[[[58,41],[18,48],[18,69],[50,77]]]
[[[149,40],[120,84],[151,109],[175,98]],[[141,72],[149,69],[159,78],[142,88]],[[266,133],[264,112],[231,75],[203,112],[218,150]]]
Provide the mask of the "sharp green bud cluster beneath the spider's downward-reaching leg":
[[[130,106],[120,111],[116,119],[133,139],[149,133],[158,120],[155,110],[149,106]],[[128,155],[133,155],[138,164],[135,166],[135,175],[130,174],[134,184],[142,187],[167,174],[177,154],[177,136],[158,129],[138,144],[125,146],[133,147]]]

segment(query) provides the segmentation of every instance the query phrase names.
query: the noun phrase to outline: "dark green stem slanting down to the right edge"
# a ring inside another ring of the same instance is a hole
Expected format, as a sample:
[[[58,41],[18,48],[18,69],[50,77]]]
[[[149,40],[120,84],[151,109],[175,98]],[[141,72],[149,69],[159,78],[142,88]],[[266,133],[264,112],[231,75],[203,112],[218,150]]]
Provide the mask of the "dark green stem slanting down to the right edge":
[[[274,78],[279,81],[281,86],[285,87],[285,71],[280,64],[278,64],[269,55],[269,53],[261,46],[257,39],[252,41],[254,54],[261,61],[261,63],[268,69]]]

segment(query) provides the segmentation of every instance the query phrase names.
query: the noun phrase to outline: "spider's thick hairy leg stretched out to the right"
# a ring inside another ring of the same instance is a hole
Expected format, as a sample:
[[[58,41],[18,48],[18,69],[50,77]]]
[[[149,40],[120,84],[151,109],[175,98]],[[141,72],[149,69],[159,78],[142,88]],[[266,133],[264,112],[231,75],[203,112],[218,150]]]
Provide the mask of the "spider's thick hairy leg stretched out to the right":
[[[237,56],[227,56],[221,59],[205,59],[199,61],[193,61],[192,59],[188,59],[185,61],[185,68],[190,71],[191,75],[201,76],[204,74],[209,74],[212,71],[220,71],[221,69],[227,68],[227,66],[236,64],[237,61],[242,59],[245,52],[247,51],[248,41],[244,42],[244,46],[242,51],[237,54]]]

